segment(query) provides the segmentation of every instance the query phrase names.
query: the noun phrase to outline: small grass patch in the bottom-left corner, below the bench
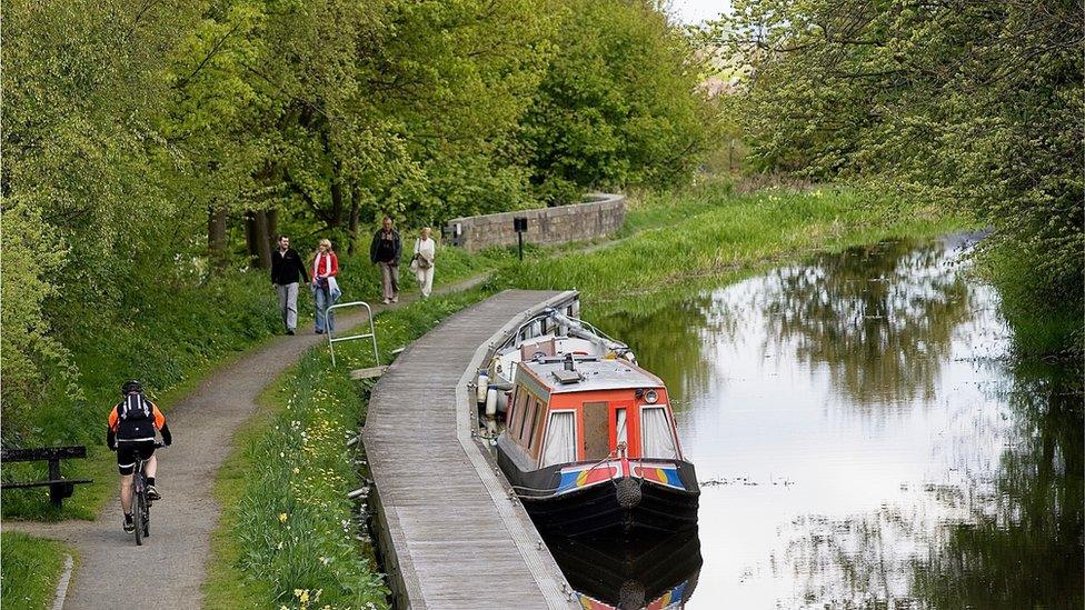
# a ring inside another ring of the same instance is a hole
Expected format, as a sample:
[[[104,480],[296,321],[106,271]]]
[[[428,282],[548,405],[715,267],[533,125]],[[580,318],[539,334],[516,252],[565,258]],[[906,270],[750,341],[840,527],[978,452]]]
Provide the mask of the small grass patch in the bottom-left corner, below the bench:
[[[17,610],[52,608],[66,554],[64,544],[56,540],[18,532],[0,534],[0,604]]]

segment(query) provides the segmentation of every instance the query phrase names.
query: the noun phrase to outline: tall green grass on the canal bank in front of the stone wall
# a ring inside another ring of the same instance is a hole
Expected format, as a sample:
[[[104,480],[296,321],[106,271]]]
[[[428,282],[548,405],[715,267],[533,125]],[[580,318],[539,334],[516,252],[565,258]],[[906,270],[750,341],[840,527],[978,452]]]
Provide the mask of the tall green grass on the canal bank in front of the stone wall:
[[[590,253],[567,252],[509,266],[495,284],[576,288],[593,311],[644,307],[665,300],[665,291],[698,280],[718,282],[815,251],[893,236],[936,234],[964,224],[933,209],[849,190],[733,196],[728,184],[654,196],[630,216],[643,229],[629,239]]]

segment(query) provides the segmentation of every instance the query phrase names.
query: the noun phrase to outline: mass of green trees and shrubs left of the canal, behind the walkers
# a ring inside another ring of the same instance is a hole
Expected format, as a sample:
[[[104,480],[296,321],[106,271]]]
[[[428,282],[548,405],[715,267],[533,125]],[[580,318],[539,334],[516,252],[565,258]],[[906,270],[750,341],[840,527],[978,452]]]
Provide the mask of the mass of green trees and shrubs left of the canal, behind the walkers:
[[[173,387],[267,336],[271,296],[239,270],[271,233],[332,238],[370,294],[380,216],[439,230],[536,204],[540,138],[580,113],[623,143],[563,170],[566,192],[688,173],[688,49],[647,6],[611,8],[614,31],[580,0],[3,0],[4,442],[86,442],[117,379]],[[589,93],[540,113],[581,70]]]

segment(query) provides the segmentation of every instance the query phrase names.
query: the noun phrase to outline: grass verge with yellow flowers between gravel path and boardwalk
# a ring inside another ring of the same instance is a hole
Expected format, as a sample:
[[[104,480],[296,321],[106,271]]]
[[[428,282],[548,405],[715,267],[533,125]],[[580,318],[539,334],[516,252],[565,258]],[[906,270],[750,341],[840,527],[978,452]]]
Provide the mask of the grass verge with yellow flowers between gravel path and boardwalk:
[[[381,361],[440,320],[485,298],[475,289],[435,296],[376,319]],[[261,397],[216,479],[222,519],[205,583],[208,608],[384,608],[376,573],[347,492],[362,486],[345,442],[365,419],[370,386],[349,371],[372,366],[362,342],[307,352]]]

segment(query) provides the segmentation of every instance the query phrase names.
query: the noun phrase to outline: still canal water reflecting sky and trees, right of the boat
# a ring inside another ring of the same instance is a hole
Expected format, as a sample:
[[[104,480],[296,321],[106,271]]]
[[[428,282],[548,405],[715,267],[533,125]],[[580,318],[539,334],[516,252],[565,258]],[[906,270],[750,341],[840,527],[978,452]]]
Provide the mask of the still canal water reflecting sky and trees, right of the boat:
[[[1081,371],[1014,361],[997,294],[967,273],[974,241],[586,311],[666,381],[701,486],[697,537],[626,561],[645,582],[601,601],[1081,608]],[[569,551],[585,589],[599,551]]]

